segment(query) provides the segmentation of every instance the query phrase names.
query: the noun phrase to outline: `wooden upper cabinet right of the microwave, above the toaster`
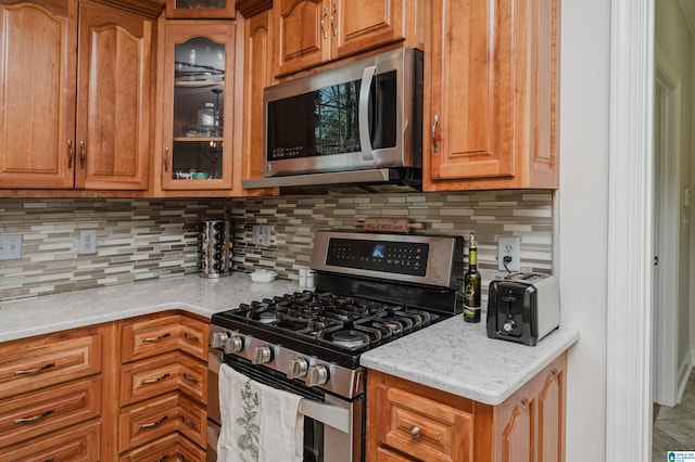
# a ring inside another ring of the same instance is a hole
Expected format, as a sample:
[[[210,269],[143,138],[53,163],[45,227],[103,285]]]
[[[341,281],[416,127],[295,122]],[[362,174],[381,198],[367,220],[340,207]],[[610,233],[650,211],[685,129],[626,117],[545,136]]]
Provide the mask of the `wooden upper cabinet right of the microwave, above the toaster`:
[[[555,0],[432,3],[425,190],[558,187],[557,24]]]

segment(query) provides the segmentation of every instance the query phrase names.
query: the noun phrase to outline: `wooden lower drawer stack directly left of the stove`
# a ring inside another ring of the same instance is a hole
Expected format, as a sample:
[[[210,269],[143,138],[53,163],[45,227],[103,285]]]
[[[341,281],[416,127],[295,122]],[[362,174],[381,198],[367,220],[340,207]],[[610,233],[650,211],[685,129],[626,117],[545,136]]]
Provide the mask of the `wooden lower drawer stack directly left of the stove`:
[[[206,320],[160,313],[123,321],[118,332],[118,460],[204,460]]]

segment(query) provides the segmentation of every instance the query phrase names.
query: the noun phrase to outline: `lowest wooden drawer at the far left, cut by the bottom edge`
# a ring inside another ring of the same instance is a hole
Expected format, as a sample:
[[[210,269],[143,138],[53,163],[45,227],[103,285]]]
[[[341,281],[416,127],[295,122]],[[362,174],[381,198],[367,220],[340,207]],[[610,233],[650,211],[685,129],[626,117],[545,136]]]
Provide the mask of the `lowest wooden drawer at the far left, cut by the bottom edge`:
[[[92,422],[1,449],[0,460],[93,462],[101,459],[100,437],[101,425]]]

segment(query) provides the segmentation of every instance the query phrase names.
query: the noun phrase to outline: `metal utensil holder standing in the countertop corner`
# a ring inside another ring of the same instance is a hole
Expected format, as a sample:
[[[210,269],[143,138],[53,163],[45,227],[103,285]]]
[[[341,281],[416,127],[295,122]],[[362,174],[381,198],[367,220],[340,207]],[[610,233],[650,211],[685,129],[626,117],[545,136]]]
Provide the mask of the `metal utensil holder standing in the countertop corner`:
[[[229,220],[207,220],[201,223],[198,239],[198,269],[201,278],[231,274],[230,230]]]

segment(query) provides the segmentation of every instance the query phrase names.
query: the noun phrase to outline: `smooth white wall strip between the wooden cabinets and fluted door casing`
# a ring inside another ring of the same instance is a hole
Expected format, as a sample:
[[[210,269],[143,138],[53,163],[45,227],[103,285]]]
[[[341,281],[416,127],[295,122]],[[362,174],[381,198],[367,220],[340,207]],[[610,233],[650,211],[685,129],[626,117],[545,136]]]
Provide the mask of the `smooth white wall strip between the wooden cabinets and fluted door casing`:
[[[610,2],[561,1],[558,274],[569,354],[567,462],[605,461]]]

